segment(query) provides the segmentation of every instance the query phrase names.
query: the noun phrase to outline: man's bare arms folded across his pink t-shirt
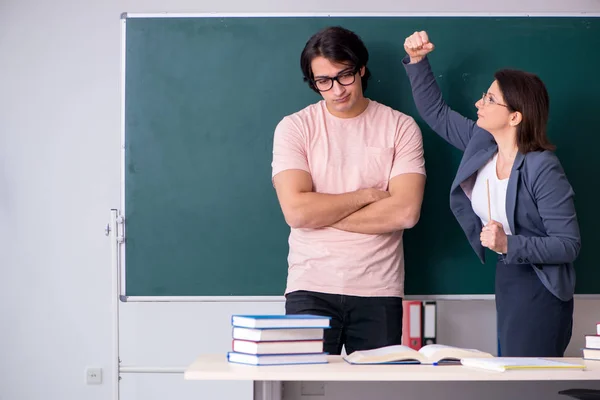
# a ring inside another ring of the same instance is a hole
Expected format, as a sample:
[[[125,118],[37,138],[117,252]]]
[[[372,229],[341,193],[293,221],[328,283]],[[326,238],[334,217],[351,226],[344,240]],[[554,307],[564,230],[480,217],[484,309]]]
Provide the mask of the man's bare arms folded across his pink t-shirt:
[[[273,182],[290,227],[333,227],[373,235],[416,225],[425,189],[425,175],[419,173],[393,177],[389,191],[361,189],[342,194],[314,192],[310,174],[298,169],[278,173]]]

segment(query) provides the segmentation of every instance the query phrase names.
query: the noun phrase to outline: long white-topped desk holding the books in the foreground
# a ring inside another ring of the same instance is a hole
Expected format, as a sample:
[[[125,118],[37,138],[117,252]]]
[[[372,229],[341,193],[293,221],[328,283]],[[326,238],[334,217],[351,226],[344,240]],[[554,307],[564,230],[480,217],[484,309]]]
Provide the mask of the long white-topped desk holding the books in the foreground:
[[[328,364],[251,366],[227,362],[224,354],[203,355],[184,373],[188,380],[252,380],[260,382],[261,400],[279,400],[283,381],[597,381],[600,361],[581,358],[558,360],[584,364],[586,370],[522,370],[495,372],[461,365],[351,365],[341,356],[329,356]]]

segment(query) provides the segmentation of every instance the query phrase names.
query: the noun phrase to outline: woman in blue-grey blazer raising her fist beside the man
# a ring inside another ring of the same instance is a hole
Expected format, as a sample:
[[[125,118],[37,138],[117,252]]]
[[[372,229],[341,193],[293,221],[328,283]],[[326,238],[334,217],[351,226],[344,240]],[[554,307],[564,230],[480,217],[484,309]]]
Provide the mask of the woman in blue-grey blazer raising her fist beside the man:
[[[527,72],[498,71],[475,103],[475,122],[442,99],[426,57],[434,49],[427,33],[409,36],[404,49],[421,117],[464,152],[452,212],[482,262],[485,247],[498,253],[502,355],[562,357],[571,339],[580,237],[573,190],[546,136],[544,84]]]

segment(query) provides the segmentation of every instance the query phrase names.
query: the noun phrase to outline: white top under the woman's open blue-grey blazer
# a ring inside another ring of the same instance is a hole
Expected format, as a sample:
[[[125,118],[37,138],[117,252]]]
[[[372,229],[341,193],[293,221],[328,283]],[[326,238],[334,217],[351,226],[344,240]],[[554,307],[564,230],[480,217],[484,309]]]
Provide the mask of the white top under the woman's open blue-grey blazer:
[[[508,219],[506,218],[508,178],[498,179],[498,175],[496,174],[497,160],[498,153],[477,172],[477,179],[475,180],[475,186],[473,186],[473,193],[471,194],[471,205],[475,214],[481,219],[481,224],[485,226],[489,222],[486,180],[489,181],[492,219],[502,224],[504,233],[511,235]]]

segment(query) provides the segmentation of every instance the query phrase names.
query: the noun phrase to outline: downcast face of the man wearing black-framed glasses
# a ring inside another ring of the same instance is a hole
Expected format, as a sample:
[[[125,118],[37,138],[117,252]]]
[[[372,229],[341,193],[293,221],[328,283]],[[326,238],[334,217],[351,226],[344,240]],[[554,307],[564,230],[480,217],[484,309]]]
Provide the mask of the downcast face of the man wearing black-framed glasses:
[[[315,86],[325,99],[331,114],[340,118],[352,118],[364,110],[361,83],[361,77],[365,74],[364,67],[356,71],[353,65],[316,57],[312,60],[311,69]],[[333,81],[333,86],[331,78],[337,78]]]

